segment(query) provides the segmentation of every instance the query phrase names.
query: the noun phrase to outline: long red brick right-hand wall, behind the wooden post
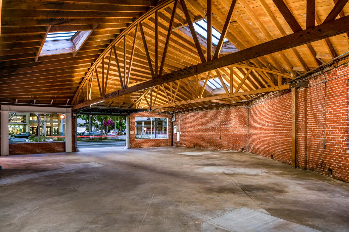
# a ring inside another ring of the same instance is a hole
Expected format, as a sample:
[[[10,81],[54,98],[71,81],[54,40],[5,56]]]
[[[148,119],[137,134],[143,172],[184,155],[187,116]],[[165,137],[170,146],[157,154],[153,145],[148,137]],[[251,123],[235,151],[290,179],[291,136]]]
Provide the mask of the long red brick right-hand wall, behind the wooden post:
[[[326,149],[324,76],[297,90],[297,167],[349,182],[348,63],[324,73],[327,79]],[[336,79],[333,79],[336,78]],[[333,79],[333,80],[331,80]],[[291,163],[291,94],[267,97],[250,106],[250,152]],[[261,131],[263,131],[261,133]]]

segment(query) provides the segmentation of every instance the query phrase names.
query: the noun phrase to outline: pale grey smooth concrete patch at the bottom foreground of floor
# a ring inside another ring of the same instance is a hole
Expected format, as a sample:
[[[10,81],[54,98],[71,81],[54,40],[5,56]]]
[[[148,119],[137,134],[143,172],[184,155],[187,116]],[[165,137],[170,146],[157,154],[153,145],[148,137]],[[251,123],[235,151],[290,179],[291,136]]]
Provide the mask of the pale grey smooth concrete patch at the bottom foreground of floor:
[[[234,232],[319,232],[319,230],[247,208],[235,209],[207,221]]]

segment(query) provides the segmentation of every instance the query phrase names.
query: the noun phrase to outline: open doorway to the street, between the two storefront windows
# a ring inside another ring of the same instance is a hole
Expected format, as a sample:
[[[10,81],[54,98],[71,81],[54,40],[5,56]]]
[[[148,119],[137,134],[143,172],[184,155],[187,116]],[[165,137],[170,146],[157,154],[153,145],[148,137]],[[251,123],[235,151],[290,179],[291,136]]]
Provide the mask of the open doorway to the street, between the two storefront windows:
[[[77,114],[76,145],[79,151],[126,146],[126,117]]]

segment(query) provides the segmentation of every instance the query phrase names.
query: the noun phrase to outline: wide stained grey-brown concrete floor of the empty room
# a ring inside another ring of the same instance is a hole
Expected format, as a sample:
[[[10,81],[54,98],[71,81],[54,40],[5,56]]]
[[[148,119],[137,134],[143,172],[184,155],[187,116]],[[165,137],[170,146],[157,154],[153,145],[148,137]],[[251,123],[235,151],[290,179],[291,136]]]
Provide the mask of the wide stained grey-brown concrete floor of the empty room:
[[[250,153],[120,148],[0,157],[0,165],[0,231],[220,232],[230,230],[209,220],[236,209],[349,231],[348,183]]]

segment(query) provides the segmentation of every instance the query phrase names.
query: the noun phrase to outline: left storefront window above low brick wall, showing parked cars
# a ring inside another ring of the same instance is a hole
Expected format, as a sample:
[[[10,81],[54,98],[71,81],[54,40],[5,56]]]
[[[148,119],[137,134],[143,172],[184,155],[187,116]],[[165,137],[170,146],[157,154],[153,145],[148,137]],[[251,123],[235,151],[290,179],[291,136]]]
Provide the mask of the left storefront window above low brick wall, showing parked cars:
[[[65,115],[10,112],[8,133],[9,143],[65,141]]]

